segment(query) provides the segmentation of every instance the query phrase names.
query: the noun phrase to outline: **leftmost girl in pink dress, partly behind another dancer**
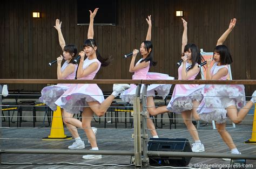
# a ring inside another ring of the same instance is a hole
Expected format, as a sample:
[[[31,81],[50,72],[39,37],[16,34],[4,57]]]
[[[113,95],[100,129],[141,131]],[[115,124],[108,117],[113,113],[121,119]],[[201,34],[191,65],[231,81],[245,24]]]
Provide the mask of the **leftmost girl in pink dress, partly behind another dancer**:
[[[56,19],[55,29],[58,31],[59,45],[62,47],[63,56],[57,58],[57,76],[58,79],[75,79],[77,64],[73,64],[73,60],[77,55],[77,47],[75,45],[66,45],[64,37],[61,31],[61,22]],[[65,60],[64,64],[61,66],[62,60]],[[47,104],[53,111],[57,109],[55,101],[70,88],[71,84],[58,84],[54,86],[44,87],[41,91],[42,96],[39,101]],[[69,149],[84,149],[84,142],[78,135],[77,128],[82,128],[82,122],[78,119],[73,118],[73,114],[69,111],[62,109],[63,122],[70,131],[75,142],[68,146]]]

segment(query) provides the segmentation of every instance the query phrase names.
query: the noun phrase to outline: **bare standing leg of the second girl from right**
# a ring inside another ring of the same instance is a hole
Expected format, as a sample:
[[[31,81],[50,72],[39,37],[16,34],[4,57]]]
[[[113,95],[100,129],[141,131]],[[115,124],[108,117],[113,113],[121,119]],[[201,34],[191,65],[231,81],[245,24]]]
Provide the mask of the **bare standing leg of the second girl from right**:
[[[191,110],[181,112],[181,116],[184,120],[185,125],[187,126],[187,130],[190,131],[190,135],[192,136],[192,138],[195,141],[199,140],[197,129],[192,123]]]

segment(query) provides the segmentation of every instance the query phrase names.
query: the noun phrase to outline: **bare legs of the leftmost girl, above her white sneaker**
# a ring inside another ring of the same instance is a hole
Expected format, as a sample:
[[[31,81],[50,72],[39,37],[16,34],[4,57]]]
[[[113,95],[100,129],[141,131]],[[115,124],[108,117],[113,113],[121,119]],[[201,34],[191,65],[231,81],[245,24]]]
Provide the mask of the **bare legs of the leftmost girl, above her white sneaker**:
[[[73,118],[73,114],[66,112],[62,109],[63,122],[68,128],[73,138],[79,137],[77,128],[82,128],[82,122],[78,119]],[[75,124],[75,125],[72,125]]]

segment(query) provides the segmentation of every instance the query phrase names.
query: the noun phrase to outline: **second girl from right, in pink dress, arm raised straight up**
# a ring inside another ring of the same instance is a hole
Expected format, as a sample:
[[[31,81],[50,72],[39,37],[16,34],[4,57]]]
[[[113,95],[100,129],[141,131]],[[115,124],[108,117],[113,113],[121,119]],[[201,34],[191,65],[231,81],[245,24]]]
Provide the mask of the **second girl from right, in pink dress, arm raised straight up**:
[[[198,75],[202,57],[198,47],[195,44],[187,44],[187,22],[183,20],[184,32],[181,52],[183,53],[182,64],[178,68],[178,80],[194,80]],[[181,113],[190,135],[195,143],[192,144],[193,152],[204,152],[204,145],[201,143],[198,132],[192,123],[192,115],[197,118],[196,108],[198,107],[203,96],[201,88],[203,85],[175,85],[172,98],[167,109],[172,112]]]

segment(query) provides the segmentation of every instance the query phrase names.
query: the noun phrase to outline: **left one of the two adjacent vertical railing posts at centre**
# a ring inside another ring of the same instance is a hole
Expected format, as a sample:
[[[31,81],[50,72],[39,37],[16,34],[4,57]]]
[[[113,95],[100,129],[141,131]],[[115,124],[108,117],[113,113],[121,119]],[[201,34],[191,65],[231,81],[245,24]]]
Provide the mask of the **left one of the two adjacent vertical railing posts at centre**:
[[[136,94],[133,100],[133,125],[134,125],[134,165],[142,166],[142,144],[140,139],[140,88],[136,88]]]

